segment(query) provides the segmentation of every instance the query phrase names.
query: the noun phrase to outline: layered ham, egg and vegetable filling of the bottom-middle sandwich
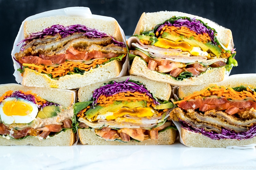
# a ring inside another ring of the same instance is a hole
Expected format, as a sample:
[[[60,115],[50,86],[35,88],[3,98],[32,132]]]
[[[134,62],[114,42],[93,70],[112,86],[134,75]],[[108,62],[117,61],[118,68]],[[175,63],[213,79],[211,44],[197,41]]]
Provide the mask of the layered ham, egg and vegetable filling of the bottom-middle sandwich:
[[[160,101],[140,82],[111,81],[93,91],[92,100],[75,104],[79,128],[91,128],[105,140],[129,142],[158,139],[175,125],[169,118],[174,105]]]

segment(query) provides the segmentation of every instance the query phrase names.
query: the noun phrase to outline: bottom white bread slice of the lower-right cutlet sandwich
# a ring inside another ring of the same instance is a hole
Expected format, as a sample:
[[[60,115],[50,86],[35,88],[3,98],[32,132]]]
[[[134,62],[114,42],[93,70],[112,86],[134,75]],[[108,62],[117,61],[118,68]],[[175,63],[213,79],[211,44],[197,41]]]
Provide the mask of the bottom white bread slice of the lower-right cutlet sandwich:
[[[181,128],[180,136],[183,140],[183,143],[186,146],[190,147],[204,147],[204,148],[225,148],[227,146],[241,146],[247,144],[255,144],[256,137],[251,139],[211,139],[210,137],[206,137],[201,133],[195,133],[189,131],[187,129]]]

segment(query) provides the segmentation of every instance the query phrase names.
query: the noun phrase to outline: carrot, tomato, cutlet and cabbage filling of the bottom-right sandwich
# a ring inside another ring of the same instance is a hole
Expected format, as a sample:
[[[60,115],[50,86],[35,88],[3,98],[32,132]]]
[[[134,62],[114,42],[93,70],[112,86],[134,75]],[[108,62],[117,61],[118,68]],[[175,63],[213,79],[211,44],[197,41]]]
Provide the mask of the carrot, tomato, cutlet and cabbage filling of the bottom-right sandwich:
[[[255,101],[249,87],[208,87],[174,102],[170,117],[212,139],[249,139],[256,136]]]

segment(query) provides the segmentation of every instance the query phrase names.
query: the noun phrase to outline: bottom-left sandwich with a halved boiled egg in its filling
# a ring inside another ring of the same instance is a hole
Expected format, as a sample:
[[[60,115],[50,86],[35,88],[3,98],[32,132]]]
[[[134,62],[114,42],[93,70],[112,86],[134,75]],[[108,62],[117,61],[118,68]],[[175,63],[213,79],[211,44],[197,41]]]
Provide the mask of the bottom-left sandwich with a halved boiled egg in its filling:
[[[76,143],[75,92],[4,84],[0,96],[0,145]]]

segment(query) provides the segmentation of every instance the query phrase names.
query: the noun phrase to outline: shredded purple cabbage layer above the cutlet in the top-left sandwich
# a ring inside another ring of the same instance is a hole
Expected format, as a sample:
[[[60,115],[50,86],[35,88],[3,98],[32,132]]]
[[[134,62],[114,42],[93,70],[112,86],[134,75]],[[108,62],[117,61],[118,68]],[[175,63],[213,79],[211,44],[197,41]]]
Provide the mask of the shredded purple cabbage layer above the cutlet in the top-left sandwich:
[[[44,38],[47,35],[56,35],[59,33],[63,38],[72,34],[72,33],[84,33],[84,36],[87,36],[89,38],[103,38],[103,37],[111,37],[112,40],[114,41],[115,45],[120,46],[120,47],[125,47],[124,42],[119,42],[114,40],[114,38],[106,33],[103,33],[102,31],[99,31],[97,29],[91,29],[83,25],[72,25],[72,26],[62,26],[62,25],[53,25],[50,28],[44,29],[42,32],[38,33],[31,33],[30,36],[22,41],[20,41],[17,46],[19,46],[21,43],[22,46],[20,50],[24,50],[24,46],[27,44],[25,43],[26,41],[32,41],[33,39],[38,39],[38,38]]]

